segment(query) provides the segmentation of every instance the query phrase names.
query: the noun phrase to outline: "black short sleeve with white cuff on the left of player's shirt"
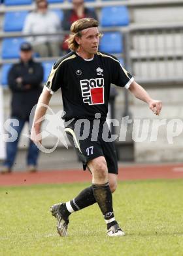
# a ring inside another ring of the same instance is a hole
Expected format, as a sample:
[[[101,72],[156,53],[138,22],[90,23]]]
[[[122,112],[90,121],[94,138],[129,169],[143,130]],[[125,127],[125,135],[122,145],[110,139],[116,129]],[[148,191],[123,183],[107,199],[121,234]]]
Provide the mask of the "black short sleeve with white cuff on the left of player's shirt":
[[[52,70],[46,82],[46,88],[48,89],[48,91],[50,91],[51,94],[54,94],[54,92],[58,91],[58,89],[61,88],[62,79],[63,65],[55,63],[52,66]]]

